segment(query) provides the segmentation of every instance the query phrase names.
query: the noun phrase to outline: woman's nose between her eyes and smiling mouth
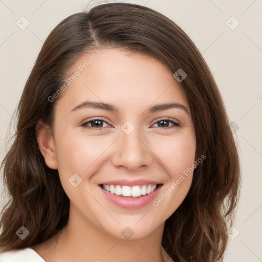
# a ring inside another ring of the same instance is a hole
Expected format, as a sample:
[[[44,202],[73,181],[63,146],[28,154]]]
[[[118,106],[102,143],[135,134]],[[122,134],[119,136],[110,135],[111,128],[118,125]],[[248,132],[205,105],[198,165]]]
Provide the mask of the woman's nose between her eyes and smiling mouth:
[[[140,170],[141,167],[151,165],[154,160],[154,152],[152,152],[149,142],[145,136],[142,136],[139,128],[135,128],[128,135],[120,130],[120,137],[115,142],[114,147],[112,163],[118,168],[136,171]]]

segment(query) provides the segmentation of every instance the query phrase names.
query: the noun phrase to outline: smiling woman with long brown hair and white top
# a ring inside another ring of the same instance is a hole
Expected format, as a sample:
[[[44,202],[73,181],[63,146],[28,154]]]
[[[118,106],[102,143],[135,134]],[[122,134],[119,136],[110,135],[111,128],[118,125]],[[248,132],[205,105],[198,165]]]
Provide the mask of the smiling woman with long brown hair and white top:
[[[164,15],[111,3],[61,21],[2,167],[1,261],[222,261],[239,161],[214,79]]]

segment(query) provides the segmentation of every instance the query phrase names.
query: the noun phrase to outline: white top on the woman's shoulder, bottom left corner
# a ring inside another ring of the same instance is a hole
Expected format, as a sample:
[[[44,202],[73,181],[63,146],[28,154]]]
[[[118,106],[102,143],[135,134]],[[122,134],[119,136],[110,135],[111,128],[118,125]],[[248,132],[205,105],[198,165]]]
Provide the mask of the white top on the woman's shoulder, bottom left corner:
[[[32,248],[0,253],[0,262],[46,262]]]

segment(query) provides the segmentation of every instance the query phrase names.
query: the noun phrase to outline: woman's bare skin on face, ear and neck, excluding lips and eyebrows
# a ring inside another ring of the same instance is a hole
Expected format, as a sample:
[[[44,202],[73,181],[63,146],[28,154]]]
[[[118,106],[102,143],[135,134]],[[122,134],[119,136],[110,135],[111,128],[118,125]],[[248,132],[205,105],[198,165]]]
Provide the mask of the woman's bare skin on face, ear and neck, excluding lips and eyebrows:
[[[50,168],[58,169],[71,204],[68,225],[32,248],[53,262],[171,261],[161,246],[164,223],[185,199],[192,172],[158,207],[118,207],[103,197],[98,185],[115,179],[154,180],[163,184],[159,198],[192,166],[196,140],[186,94],[159,60],[122,49],[100,51],[55,101],[53,133],[38,122],[42,155]],[[83,54],[71,72],[89,56]],[[86,100],[114,104],[119,113],[90,107],[71,112]],[[181,108],[146,113],[149,106],[168,102],[183,104],[189,114]],[[81,126],[96,117],[105,121],[100,129]],[[168,121],[161,125],[166,118],[180,126]],[[121,129],[126,121],[135,128],[129,135]],[[82,179],[77,187],[68,181],[74,173]],[[121,234],[126,226],[134,232],[130,239]]]

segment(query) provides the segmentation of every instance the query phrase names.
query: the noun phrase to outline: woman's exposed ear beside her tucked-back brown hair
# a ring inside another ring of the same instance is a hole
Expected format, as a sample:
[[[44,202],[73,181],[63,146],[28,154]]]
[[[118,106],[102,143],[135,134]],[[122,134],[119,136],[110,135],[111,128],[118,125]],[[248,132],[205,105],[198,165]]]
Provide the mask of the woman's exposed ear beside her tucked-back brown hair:
[[[39,149],[48,167],[57,169],[54,139],[49,126],[39,119],[36,124],[36,137]]]

